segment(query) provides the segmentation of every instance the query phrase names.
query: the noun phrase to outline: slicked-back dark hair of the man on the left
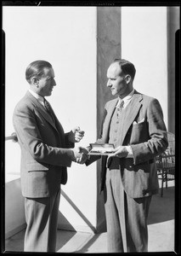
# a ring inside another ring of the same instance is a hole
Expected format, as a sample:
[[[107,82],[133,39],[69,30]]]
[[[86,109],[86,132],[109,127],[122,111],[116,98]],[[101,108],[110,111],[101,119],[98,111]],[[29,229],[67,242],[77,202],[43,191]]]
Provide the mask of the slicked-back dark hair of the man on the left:
[[[33,61],[25,70],[25,79],[31,83],[31,78],[41,79],[44,74],[44,67],[51,68],[52,65],[48,61]]]

